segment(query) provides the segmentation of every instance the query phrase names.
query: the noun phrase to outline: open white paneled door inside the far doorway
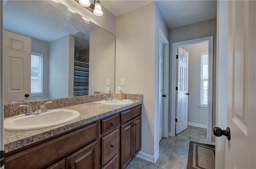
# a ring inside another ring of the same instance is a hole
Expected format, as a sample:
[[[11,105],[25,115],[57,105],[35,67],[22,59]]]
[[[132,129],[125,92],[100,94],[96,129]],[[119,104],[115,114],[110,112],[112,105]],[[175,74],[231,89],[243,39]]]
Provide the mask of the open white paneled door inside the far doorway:
[[[176,134],[188,128],[188,52],[178,48]]]

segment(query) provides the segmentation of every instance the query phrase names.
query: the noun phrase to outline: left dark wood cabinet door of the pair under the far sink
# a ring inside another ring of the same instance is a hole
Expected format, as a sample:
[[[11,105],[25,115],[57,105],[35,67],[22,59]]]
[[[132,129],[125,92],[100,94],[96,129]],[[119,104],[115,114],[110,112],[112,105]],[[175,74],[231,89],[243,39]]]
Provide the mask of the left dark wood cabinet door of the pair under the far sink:
[[[125,169],[132,161],[132,120],[121,125],[121,168]]]

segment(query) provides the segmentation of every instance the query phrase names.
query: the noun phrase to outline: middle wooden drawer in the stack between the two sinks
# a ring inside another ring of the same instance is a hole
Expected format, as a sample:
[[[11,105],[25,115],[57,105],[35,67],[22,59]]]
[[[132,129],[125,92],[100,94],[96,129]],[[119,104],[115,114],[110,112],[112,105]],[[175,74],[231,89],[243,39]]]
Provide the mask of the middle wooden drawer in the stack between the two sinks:
[[[102,166],[118,153],[118,129],[102,137]]]

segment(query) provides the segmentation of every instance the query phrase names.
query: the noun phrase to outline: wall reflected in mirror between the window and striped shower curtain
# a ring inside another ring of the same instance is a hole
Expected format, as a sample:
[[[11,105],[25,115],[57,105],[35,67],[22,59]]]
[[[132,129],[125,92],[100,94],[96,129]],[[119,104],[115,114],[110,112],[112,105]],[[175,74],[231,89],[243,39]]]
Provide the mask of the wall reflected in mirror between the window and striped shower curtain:
[[[49,98],[73,97],[75,38],[67,35],[49,44]]]

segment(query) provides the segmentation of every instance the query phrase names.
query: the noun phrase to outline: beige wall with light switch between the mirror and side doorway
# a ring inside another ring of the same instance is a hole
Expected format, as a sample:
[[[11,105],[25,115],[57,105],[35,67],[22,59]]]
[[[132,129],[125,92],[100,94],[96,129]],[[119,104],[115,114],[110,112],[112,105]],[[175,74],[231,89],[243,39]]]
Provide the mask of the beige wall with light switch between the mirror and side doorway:
[[[143,94],[139,155],[143,153],[152,158],[158,149],[155,70],[159,27],[168,38],[167,24],[155,2],[116,17],[116,86],[120,86],[120,79],[124,78],[122,92]],[[154,160],[152,158],[150,160]]]

